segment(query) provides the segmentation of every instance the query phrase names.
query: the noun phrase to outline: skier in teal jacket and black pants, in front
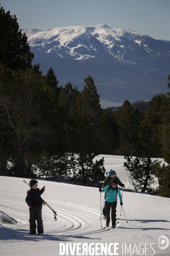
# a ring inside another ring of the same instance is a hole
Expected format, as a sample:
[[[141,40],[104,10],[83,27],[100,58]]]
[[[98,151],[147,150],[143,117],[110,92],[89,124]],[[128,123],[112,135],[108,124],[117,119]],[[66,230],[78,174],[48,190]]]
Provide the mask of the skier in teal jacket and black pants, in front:
[[[99,188],[101,193],[106,192],[105,195],[105,209],[106,209],[106,227],[109,227],[110,219],[112,220],[112,228],[116,226],[116,206],[117,206],[117,194],[119,195],[120,205],[122,206],[122,195],[117,187],[118,182],[116,179],[110,181],[110,185],[104,189]],[[111,218],[110,218],[111,212]]]

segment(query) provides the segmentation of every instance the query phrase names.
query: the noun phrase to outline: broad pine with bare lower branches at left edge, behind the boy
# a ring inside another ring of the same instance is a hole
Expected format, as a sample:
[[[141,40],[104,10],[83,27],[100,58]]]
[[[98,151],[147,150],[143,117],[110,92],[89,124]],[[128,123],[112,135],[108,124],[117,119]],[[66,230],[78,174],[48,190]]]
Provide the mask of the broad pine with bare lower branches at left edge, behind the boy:
[[[0,161],[6,174],[24,176],[27,159],[34,150],[42,151],[54,119],[53,95],[41,74],[0,65]]]

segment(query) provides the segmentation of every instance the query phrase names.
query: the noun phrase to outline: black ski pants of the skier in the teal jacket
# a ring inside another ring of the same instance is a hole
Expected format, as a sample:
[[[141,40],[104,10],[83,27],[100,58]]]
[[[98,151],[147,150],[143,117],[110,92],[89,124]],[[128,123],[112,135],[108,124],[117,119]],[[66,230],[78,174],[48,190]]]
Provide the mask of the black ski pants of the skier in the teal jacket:
[[[111,202],[111,203],[105,201],[106,225],[109,225],[110,220],[112,220],[112,226],[116,225],[116,206],[117,206],[117,201]],[[110,212],[111,212],[111,217],[110,217]]]

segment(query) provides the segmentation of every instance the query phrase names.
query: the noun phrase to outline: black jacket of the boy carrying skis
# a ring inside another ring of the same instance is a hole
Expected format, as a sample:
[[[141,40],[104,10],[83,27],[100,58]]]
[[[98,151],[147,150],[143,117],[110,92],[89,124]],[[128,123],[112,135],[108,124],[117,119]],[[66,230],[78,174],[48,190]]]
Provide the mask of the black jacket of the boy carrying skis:
[[[37,189],[30,189],[28,190],[29,195],[29,206],[30,207],[39,207],[42,205],[42,201],[44,201],[41,197],[42,193],[44,192],[44,189],[41,190],[39,188]]]

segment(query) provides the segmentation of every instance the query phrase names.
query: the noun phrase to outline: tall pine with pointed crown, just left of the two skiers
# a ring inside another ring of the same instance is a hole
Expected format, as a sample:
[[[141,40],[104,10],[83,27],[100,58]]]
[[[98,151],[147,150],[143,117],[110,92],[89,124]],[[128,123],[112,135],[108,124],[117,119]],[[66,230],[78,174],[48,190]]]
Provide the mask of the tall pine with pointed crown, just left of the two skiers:
[[[71,108],[67,120],[65,145],[68,152],[77,155],[74,178],[87,186],[104,180],[105,169],[103,160],[93,162],[102,146],[96,135],[101,114],[100,96],[91,76],[84,81],[86,85],[77,97],[76,108]]]

